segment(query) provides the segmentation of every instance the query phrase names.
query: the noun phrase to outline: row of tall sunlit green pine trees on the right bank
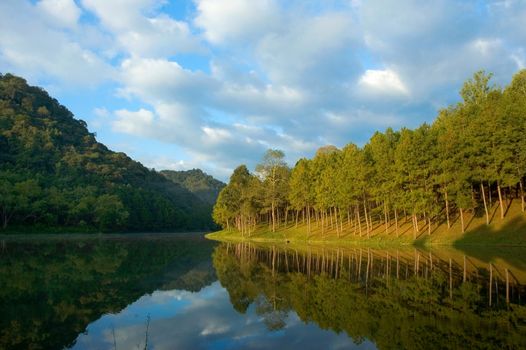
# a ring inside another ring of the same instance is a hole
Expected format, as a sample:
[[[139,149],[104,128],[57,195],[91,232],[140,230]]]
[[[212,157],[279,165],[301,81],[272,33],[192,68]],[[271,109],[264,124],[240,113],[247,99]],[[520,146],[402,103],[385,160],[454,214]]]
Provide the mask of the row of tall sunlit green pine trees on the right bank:
[[[504,218],[513,198],[524,212],[526,175],[526,70],[510,85],[490,85],[480,71],[460,91],[462,102],[442,109],[431,124],[415,130],[376,132],[358,147],[320,148],[313,159],[290,169],[279,150],[269,150],[251,174],[238,167],[214,207],[226,229],[250,234],[260,223],[275,231],[305,223],[309,234],[352,230],[369,237],[373,229],[400,235],[410,220],[414,237],[459,219],[467,211],[490,222],[499,206]]]

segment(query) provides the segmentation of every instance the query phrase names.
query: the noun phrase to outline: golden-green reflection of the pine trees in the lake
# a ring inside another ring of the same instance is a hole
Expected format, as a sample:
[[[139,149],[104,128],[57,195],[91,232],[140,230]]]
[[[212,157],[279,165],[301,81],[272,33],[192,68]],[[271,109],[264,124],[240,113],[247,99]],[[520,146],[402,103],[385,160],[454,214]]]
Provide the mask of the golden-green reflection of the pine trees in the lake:
[[[213,261],[234,308],[255,304],[271,328],[294,310],[381,349],[526,347],[526,288],[511,281],[508,305],[495,270],[464,272],[434,253],[223,244]]]

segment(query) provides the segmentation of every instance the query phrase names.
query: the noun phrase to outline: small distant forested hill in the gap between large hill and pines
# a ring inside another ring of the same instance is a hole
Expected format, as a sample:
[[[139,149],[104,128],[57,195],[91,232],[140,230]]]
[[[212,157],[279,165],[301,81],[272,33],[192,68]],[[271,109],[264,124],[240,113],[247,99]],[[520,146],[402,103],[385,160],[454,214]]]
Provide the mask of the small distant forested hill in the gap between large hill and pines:
[[[163,170],[161,171],[166,178],[183,186],[188,191],[195,194],[202,201],[214,205],[219,192],[226,185],[212,176],[204,173],[201,169],[184,171]]]

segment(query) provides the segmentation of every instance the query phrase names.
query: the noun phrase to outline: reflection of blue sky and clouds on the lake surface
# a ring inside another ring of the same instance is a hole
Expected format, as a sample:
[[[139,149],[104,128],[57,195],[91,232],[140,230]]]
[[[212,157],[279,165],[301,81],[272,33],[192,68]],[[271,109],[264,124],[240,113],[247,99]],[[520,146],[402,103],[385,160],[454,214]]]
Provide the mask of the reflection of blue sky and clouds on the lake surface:
[[[255,306],[246,314],[237,313],[219,282],[197,293],[172,290],[145,295],[118,314],[91,323],[73,348],[112,349],[114,334],[119,349],[143,347],[148,315],[148,344],[153,349],[374,348],[369,342],[356,345],[346,334],[305,324],[295,312],[288,313],[283,329],[269,333]]]

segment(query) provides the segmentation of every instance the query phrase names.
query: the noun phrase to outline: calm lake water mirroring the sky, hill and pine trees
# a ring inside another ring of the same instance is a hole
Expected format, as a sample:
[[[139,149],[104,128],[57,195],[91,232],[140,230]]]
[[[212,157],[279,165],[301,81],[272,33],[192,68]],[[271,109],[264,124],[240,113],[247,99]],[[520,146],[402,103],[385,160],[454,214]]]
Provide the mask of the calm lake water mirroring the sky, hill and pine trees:
[[[525,349],[524,253],[0,239],[0,349]]]

